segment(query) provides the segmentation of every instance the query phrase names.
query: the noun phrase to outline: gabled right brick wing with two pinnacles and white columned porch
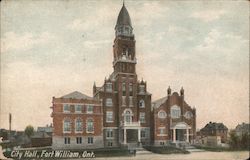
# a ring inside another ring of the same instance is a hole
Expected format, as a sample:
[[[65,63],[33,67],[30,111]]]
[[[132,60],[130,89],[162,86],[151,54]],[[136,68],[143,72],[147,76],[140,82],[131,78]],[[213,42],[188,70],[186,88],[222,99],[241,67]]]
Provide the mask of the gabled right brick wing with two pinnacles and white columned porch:
[[[153,103],[154,145],[169,143],[193,143],[196,136],[196,110],[184,99],[184,89],[180,94],[171,93]]]

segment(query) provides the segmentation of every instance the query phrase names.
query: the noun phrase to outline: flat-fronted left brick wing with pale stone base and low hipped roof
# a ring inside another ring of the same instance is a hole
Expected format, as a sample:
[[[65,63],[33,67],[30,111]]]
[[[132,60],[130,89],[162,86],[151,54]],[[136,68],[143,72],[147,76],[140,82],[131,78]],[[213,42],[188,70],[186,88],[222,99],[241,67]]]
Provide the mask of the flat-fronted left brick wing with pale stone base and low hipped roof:
[[[80,92],[53,97],[53,148],[102,148],[101,101]]]

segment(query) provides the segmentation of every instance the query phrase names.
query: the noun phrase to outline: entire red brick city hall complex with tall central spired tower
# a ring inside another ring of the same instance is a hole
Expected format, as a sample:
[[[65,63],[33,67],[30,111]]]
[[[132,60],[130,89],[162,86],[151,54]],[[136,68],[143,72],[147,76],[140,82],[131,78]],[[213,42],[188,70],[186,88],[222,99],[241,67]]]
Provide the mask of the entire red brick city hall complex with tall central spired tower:
[[[72,92],[53,97],[54,148],[103,148],[192,143],[196,112],[180,95],[167,90],[155,102],[136,74],[136,41],[123,4],[115,26],[113,73],[93,96]],[[101,77],[100,77],[101,78]],[[163,90],[163,92],[165,92]]]

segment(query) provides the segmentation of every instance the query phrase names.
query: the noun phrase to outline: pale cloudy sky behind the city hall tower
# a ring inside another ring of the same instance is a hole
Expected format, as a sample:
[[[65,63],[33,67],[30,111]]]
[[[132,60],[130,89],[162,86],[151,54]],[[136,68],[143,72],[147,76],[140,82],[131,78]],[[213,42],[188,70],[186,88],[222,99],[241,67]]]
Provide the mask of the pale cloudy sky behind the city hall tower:
[[[179,92],[197,129],[249,122],[249,2],[125,0],[138,79],[152,99]],[[0,128],[52,122],[52,97],[92,95],[112,73],[121,0],[1,2]]]

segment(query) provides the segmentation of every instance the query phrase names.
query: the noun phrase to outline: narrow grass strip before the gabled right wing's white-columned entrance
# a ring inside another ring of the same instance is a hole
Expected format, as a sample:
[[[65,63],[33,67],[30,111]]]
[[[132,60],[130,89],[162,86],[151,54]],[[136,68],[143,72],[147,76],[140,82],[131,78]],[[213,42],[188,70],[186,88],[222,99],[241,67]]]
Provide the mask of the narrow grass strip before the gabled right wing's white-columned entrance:
[[[181,154],[188,154],[189,152],[180,148],[176,148],[173,146],[148,146],[145,147],[148,151],[151,151],[153,153],[158,153],[158,154],[176,154],[176,153],[181,153]]]

